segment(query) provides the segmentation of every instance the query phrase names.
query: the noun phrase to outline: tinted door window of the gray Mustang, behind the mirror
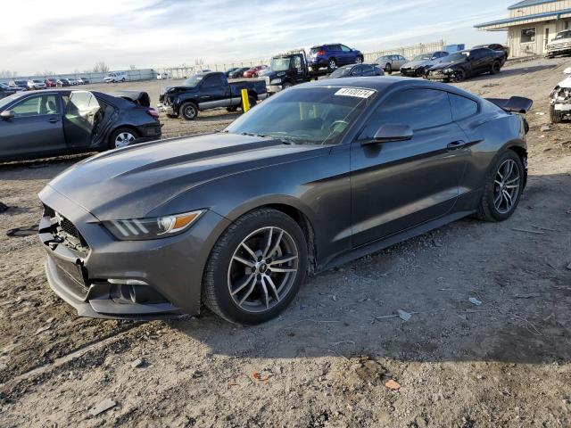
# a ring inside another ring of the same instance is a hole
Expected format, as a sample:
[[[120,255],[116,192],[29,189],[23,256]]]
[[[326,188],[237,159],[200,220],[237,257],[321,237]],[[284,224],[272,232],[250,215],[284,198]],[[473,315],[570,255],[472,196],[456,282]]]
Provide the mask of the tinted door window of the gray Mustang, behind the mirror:
[[[452,121],[448,93],[434,89],[406,89],[390,95],[368,121],[375,132],[386,123],[409,125],[413,131],[446,125]]]

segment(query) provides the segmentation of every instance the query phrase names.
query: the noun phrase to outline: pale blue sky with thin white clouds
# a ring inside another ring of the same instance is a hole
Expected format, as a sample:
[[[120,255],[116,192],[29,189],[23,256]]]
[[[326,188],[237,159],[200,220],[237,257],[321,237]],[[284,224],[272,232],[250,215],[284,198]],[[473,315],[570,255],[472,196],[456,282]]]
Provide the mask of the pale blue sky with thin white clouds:
[[[474,24],[515,0],[19,0],[3,4],[0,70],[21,74],[257,60],[340,42],[362,51],[505,42]],[[36,10],[37,13],[27,11]],[[5,20],[6,16],[17,16]]]

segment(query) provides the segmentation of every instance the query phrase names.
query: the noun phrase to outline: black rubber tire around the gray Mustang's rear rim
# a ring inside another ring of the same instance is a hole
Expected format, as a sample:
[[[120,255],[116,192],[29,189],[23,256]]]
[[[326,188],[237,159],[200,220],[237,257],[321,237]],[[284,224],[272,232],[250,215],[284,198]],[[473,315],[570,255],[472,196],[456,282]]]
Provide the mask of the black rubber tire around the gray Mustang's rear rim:
[[[496,205],[494,204],[494,195],[498,188],[498,185],[496,184],[496,177],[498,175],[499,169],[504,165],[506,161],[510,160],[515,162],[515,166],[517,167],[517,172],[519,175],[519,181],[517,183],[517,196],[511,208],[507,212],[501,212],[496,208]],[[517,209],[517,204],[519,203],[519,199],[524,190],[524,182],[525,169],[517,153],[512,150],[507,150],[506,152],[501,153],[498,159],[494,162],[492,169],[490,169],[485,179],[484,193],[482,194],[482,199],[478,205],[476,217],[484,221],[503,221],[511,217],[514,211]]]

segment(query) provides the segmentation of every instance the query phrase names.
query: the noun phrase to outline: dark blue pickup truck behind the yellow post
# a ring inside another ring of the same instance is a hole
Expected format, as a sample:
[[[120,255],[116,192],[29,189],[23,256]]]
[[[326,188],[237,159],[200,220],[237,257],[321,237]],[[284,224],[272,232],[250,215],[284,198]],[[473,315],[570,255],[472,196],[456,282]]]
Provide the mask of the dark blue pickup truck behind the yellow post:
[[[198,111],[219,107],[236,111],[242,105],[244,88],[251,106],[268,96],[263,80],[228,82],[226,74],[219,71],[195,74],[183,85],[165,87],[159,95],[158,110],[170,118],[181,116],[186,120],[196,119]]]

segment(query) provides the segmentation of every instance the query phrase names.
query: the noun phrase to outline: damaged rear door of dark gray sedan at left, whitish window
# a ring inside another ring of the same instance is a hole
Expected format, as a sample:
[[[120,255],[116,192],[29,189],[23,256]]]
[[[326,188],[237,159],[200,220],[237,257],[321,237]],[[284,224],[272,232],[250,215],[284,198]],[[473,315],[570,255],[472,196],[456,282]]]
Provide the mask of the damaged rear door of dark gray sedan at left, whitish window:
[[[87,91],[71,92],[63,115],[63,133],[68,147],[88,148],[100,116],[101,106],[95,95]]]

